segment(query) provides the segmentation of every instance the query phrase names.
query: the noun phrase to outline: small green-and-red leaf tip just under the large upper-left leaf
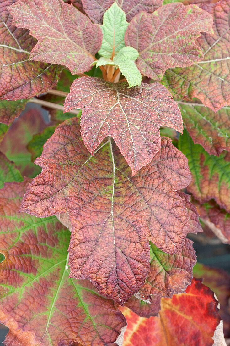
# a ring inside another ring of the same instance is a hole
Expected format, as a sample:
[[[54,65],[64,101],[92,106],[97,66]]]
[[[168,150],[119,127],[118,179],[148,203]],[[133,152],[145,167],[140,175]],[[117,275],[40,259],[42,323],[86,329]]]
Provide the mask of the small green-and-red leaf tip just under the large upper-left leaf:
[[[25,108],[27,100],[0,101],[0,122],[9,125],[15,118],[19,117]]]

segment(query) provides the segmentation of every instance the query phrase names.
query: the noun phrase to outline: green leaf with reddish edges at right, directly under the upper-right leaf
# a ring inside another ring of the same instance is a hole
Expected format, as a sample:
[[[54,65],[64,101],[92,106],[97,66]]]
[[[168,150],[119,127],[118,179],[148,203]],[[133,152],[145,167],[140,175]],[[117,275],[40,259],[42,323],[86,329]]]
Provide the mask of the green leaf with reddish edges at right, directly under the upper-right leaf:
[[[230,107],[214,113],[202,103],[179,102],[183,122],[195,144],[210,155],[230,151]]]

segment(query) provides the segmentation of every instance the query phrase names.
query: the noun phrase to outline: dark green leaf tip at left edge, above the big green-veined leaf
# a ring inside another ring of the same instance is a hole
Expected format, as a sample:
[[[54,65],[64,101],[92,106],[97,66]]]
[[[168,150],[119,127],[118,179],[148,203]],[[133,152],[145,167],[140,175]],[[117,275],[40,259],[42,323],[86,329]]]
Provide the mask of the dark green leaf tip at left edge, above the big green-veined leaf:
[[[0,152],[0,189],[3,188],[4,182],[22,180],[21,173],[15,167],[15,164]]]

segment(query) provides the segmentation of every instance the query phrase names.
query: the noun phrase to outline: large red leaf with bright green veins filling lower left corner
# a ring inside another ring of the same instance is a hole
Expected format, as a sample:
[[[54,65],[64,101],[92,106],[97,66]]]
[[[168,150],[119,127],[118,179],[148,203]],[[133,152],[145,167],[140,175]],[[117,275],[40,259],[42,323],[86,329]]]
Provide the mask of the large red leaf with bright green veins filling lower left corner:
[[[19,214],[29,180],[0,190],[0,321],[5,346],[115,345],[126,325],[88,280],[68,279],[69,231],[55,216]]]

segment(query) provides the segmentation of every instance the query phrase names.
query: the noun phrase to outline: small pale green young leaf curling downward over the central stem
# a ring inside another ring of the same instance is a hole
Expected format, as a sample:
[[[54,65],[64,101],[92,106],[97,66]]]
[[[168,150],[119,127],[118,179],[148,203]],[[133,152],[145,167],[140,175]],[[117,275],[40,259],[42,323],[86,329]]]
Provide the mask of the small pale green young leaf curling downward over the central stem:
[[[133,47],[123,47],[118,54],[113,58],[113,61],[109,58],[101,57],[96,61],[96,66],[113,65],[119,68],[121,73],[125,76],[129,88],[131,86],[141,85],[141,72],[137,69],[135,60],[139,53]]]

